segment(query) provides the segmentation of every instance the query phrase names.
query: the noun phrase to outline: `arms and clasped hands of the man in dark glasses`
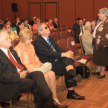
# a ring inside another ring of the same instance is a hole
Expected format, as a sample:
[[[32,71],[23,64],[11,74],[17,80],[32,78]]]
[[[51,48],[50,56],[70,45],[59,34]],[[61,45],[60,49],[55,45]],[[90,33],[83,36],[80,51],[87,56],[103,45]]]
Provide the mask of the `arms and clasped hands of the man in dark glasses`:
[[[54,41],[55,42],[55,41]],[[53,43],[54,43],[53,42]],[[54,44],[54,48],[56,48],[56,51],[52,51],[49,48],[47,48],[42,42],[39,40],[35,40],[34,42],[34,48],[36,52],[41,53],[42,55],[52,57],[52,58],[61,58],[61,57],[67,57],[67,58],[73,58],[73,52],[72,51],[65,51],[64,49],[61,49],[57,43]]]

